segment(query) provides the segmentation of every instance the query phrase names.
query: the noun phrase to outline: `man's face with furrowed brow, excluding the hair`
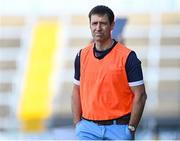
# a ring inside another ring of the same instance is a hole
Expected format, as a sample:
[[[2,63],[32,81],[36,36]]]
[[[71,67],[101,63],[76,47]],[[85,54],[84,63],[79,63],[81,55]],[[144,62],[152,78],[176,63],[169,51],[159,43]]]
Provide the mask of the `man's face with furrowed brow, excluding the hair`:
[[[105,42],[111,38],[111,30],[114,23],[110,25],[108,16],[105,15],[91,15],[90,29],[95,42]]]

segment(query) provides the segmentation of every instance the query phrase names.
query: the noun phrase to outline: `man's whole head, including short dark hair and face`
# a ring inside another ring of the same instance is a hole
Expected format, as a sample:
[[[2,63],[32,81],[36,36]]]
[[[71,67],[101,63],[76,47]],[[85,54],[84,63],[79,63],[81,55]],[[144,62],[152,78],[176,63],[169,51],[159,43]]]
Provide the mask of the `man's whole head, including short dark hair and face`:
[[[89,12],[91,34],[95,42],[106,43],[111,40],[111,31],[114,27],[114,14],[106,6],[94,7]]]

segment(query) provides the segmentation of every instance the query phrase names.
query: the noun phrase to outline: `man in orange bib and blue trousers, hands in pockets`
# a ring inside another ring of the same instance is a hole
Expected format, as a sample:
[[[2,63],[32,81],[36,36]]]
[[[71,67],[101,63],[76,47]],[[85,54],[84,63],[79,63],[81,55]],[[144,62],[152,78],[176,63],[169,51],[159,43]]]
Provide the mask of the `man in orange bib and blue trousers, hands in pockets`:
[[[134,139],[146,92],[134,51],[111,38],[114,14],[100,5],[89,13],[93,43],[75,59],[72,95],[76,136],[85,140]]]

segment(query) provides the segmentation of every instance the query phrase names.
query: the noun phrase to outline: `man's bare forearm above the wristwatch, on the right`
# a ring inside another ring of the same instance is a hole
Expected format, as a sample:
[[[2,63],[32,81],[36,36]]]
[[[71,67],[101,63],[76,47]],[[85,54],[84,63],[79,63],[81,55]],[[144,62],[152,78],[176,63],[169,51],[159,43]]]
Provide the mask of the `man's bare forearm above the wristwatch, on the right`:
[[[141,120],[141,116],[144,110],[147,95],[146,95],[144,84],[139,85],[139,86],[132,86],[131,90],[134,93],[134,100],[133,100],[129,125],[135,126],[135,128],[137,128]]]

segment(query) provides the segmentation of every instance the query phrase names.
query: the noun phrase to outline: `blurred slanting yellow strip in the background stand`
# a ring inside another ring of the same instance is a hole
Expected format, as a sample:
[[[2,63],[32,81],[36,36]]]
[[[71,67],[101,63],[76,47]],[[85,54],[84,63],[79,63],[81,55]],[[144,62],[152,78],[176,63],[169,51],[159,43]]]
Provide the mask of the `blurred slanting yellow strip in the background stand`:
[[[50,78],[57,48],[57,21],[41,21],[34,30],[18,116],[24,131],[42,131],[51,114]]]

